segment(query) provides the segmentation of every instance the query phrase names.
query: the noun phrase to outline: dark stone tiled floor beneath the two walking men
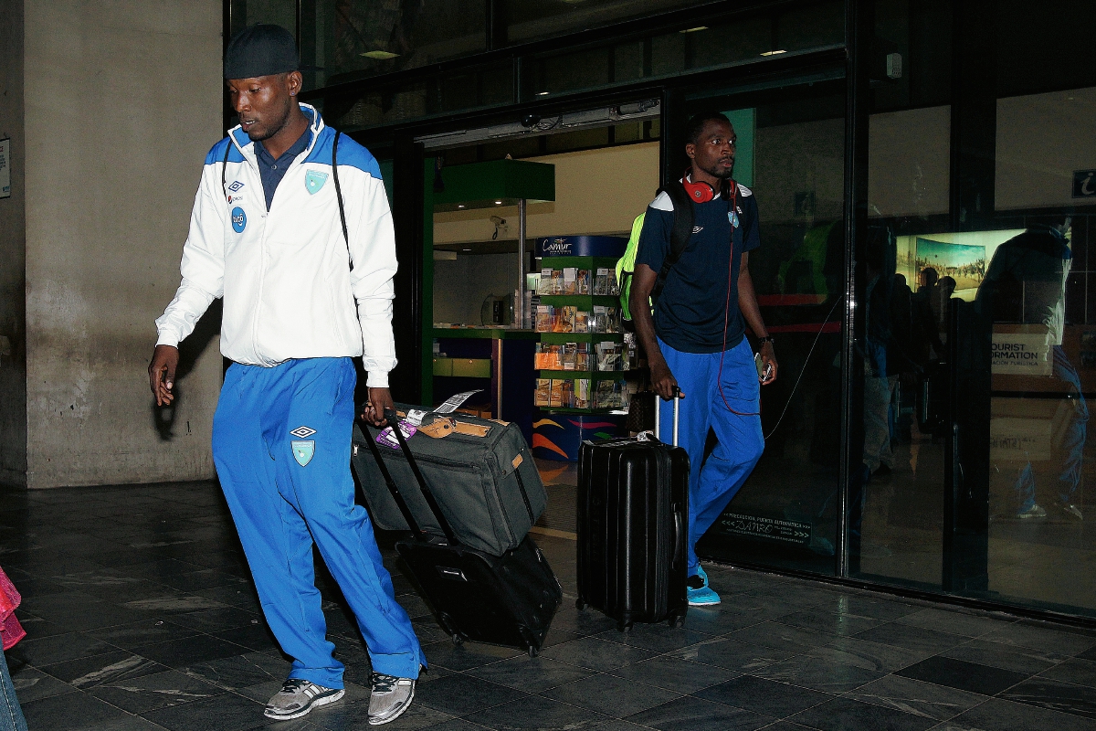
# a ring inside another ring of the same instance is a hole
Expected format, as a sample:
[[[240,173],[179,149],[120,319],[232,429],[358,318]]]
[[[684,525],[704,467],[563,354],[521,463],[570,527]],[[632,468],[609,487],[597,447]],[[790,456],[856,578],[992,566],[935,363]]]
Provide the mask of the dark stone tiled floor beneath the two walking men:
[[[720,608],[620,635],[573,608],[574,542],[537,541],[567,598],[535,660],[453,647],[395,572],[431,672],[392,731],[1096,729],[1096,632],[712,567]],[[263,719],[288,663],[212,483],[0,490],[0,564],[31,731],[367,728],[368,660],[322,575],[347,697]]]

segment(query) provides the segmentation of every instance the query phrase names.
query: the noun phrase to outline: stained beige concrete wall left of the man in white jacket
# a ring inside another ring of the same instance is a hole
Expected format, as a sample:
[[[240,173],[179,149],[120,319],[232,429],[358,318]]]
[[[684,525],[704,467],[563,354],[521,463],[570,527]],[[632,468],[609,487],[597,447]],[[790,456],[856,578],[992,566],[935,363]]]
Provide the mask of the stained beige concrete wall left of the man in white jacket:
[[[210,478],[216,335],[183,349],[163,436],[146,368],[224,136],[221,3],[25,9],[27,484]]]

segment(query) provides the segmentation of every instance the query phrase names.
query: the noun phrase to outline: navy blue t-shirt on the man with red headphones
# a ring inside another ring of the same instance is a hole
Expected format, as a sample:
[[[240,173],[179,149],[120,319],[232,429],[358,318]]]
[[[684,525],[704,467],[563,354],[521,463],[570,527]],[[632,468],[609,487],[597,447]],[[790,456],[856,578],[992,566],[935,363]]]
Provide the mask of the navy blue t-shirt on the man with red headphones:
[[[739,185],[737,218],[733,228],[734,262],[731,266],[732,226],[730,201],[717,197],[694,204],[693,237],[681,259],[670,270],[654,306],[654,332],[675,351],[718,353],[723,350],[723,312],[728,299],[730,273],[730,311],[727,317],[726,347],[742,342],[745,322],[739,309],[739,267],[742,252],[761,245],[757,232],[757,201],[753,192]],[[673,203],[666,193],[647,208],[639,235],[636,264],[647,264],[655,272],[670,253],[670,233],[674,228]]]

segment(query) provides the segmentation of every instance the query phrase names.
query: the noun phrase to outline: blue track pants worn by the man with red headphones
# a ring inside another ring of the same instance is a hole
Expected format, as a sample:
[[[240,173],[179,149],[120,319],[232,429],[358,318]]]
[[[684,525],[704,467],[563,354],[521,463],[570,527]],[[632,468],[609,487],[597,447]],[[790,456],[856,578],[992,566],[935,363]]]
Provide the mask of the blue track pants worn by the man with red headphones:
[[[696,573],[696,542],[719,518],[761,459],[765,438],[761,432],[761,384],[753,351],[745,339],[724,353],[683,353],[659,340],[659,349],[677,379],[681,400],[678,446],[688,453],[688,569]],[[723,373],[719,375],[722,355]],[[722,395],[720,395],[720,380]],[[726,402],[724,402],[726,398]],[[734,413],[734,411],[740,413]],[[672,406],[663,404],[662,439],[670,442],[674,429]],[[708,430],[719,444],[704,459]]]

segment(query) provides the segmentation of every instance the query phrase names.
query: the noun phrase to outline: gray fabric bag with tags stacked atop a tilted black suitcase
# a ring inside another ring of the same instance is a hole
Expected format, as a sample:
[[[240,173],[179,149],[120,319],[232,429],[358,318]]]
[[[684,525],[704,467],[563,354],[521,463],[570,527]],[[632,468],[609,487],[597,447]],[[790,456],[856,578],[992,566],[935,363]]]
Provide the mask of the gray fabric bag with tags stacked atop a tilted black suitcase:
[[[402,404],[397,408],[401,414],[409,409]],[[373,522],[384,530],[409,530],[365,443],[363,429],[373,439],[380,430],[355,423],[351,457]],[[444,436],[435,438],[427,432]],[[502,556],[517,548],[544,512],[548,501],[544,482],[516,424],[464,413],[427,414],[408,446],[455,538],[464,546]],[[419,526],[442,535],[403,453],[384,444],[377,449]]]

